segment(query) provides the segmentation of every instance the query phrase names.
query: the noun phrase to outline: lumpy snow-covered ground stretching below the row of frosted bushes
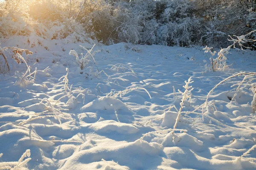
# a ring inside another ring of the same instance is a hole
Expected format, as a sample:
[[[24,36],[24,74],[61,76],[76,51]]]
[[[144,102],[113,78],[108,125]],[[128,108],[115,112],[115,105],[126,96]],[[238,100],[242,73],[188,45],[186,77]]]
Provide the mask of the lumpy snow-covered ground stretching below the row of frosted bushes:
[[[11,75],[0,75],[0,169],[256,169],[256,150],[247,152],[256,144],[253,77],[235,100],[239,84],[231,86],[242,76],[219,85],[203,111],[198,108],[223,79],[256,72],[255,51],[231,50],[230,69],[213,72],[203,47],[96,45],[96,63],[87,55],[81,70],[70,50],[81,58],[87,51],[79,45],[90,50],[91,44],[50,41],[31,48],[14,37],[1,46],[16,44],[34,54],[23,56],[31,77],[25,63],[15,62]],[[173,133],[190,77],[194,89]]]

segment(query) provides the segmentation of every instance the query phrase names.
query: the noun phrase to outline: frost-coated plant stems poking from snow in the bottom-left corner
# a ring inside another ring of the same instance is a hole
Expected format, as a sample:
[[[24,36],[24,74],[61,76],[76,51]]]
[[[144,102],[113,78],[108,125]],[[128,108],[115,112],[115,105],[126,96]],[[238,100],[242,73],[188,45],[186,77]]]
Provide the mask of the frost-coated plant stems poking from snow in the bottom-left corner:
[[[3,156],[3,153],[0,154],[0,157]],[[26,157],[28,157],[27,159],[25,159]],[[15,167],[12,167],[13,162],[4,162],[5,164],[10,164],[10,165],[5,165],[4,167],[0,167],[0,170],[20,170],[23,169],[24,165],[26,163],[28,163],[31,158],[30,157],[30,150],[26,150],[26,152],[23,153],[23,155],[20,157],[17,165],[15,165]],[[25,159],[25,160],[23,160]]]

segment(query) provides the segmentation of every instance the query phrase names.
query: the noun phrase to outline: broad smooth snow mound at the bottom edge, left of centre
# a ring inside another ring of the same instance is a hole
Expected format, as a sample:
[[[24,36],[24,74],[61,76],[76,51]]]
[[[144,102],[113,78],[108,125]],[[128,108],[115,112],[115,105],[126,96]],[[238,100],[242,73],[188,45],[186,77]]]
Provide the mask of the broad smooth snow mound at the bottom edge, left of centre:
[[[156,166],[160,161],[159,154],[163,151],[163,145],[155,142],[148,143],[143,140],[136,140],[126,144],[112,147],[93,147],[74,153],[66,161],[61,170],[82,170],[90,162],[113,160],[121,166],[128,166],[131,169],[148,169]],[[157,156],[157,157],[156,157]],[[144,159],[140,159],[140,158]]]

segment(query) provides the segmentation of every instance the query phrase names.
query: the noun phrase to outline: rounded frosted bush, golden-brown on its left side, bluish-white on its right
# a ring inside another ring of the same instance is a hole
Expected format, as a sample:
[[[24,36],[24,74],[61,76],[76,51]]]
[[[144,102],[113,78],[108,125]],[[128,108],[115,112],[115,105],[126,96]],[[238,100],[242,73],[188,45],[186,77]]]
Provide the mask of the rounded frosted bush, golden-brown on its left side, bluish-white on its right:
[[[140,20],[128,3],[84,2],[87,6],[83,6],[78,19],[92,38],[105,44],[140,40]]]

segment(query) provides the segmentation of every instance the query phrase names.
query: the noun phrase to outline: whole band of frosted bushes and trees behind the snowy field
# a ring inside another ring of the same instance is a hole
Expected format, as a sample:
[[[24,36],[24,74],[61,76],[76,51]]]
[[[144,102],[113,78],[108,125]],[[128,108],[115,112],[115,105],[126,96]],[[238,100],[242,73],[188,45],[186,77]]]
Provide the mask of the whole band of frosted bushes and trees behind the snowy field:
[[[226,47],[256,28],[256,0],[5,0],[0,38]],[[254,39],[255,33],[251,35]],[[29,41],[29,40],[28,40]],[[247,44],[255,48],[254,44]]]

